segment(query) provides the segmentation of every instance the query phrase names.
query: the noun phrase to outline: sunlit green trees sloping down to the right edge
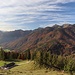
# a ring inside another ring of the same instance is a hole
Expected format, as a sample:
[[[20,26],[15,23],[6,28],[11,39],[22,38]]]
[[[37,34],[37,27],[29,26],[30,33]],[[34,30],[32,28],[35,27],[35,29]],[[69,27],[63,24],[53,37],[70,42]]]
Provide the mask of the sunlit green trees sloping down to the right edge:
[[[75,71],[75,59],[69,56],[51,54],[50,51],[36,53],[36,63],[46,68],[55,68],[57,70]]]

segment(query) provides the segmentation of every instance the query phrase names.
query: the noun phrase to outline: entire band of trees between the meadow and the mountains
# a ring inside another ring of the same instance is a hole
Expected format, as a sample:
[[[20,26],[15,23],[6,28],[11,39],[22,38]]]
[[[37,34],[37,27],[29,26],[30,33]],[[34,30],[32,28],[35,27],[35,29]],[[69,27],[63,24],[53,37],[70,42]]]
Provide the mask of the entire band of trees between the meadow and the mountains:
[[[45,66],[46,68],[55,68],[64,71],[75,71],[75,59],[69,56],[62,56],[51,54],[50,51],[33,51],[29,49],[23,53],[9,51],[5,52],[0,49],[0,60],[34,60],[39,66]]]

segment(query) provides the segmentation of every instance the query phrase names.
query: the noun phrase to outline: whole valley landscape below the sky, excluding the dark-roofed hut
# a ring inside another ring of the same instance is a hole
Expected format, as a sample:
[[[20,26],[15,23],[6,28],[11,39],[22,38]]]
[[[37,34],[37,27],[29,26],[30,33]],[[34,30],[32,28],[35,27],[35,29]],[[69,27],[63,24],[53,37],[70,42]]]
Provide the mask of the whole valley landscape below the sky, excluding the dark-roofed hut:
[[[17,65],[1,70],[2,75],[75,74],[74,24],[0,34],[0,66]]]

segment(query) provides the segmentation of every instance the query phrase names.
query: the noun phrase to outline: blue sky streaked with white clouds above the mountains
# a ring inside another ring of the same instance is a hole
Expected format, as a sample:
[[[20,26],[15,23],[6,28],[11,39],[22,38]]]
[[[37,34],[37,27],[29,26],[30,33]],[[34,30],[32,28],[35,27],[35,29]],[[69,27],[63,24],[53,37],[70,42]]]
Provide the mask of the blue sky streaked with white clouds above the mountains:
[[[0,0],[0,30],[75,24],[75,0]]]

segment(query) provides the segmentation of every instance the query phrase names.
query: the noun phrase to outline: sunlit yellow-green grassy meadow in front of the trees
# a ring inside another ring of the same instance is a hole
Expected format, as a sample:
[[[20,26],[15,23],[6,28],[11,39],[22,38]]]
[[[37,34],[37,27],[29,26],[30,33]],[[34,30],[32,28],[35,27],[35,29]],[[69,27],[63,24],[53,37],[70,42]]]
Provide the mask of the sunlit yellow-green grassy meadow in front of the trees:
[[[0,61],[0,65],[3,65],[3,61]],[[62,71],[53,71],[45,68],[39,68],[35,66],[34,61],[21,61],[16,62],[18,66],[10,70],[0,70],[0,75],[69,75]]]

